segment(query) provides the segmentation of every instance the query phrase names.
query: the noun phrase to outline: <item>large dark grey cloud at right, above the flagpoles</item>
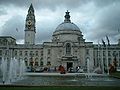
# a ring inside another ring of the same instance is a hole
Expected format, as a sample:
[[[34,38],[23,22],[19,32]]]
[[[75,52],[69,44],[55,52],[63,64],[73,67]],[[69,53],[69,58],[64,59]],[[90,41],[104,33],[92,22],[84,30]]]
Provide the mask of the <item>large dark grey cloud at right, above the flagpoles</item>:
[[[105,35],[110,36],[111,41],[115,42],[119,39],[118,29],[120,28],[120,3],[116,6],[111,5],[103,8],[95,17],[95,23],[91,28],[89,38],[96,40],[96,38],[104,38]]]

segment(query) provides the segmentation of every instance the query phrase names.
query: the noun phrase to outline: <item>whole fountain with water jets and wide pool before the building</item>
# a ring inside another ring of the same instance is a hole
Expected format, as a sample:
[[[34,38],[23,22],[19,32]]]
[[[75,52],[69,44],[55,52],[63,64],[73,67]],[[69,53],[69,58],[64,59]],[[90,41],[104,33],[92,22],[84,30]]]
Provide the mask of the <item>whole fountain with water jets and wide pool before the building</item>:
[[[9,69],[7,69],[7,67]],[[87,59],[87,73],[24,73],[24,60],[12,58],[7,66],[7,60],[2,59],[2,83],[9,85],[76,85],[76,86],[120,86],[120,80],[103,74],[90,72],[90,60]],[[25,75],[25,78],[23,78]]]

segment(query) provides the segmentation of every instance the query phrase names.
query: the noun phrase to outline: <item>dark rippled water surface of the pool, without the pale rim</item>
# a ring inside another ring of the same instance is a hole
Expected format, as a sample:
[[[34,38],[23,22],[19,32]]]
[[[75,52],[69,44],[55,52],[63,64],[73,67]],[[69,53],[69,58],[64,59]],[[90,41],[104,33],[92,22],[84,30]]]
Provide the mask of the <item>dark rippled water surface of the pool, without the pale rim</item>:
[[[34,86],[120,86],[120,80],[107,76],[39,76],[30,75],[24,80],[12,83],[15,85],[34,85]]]

